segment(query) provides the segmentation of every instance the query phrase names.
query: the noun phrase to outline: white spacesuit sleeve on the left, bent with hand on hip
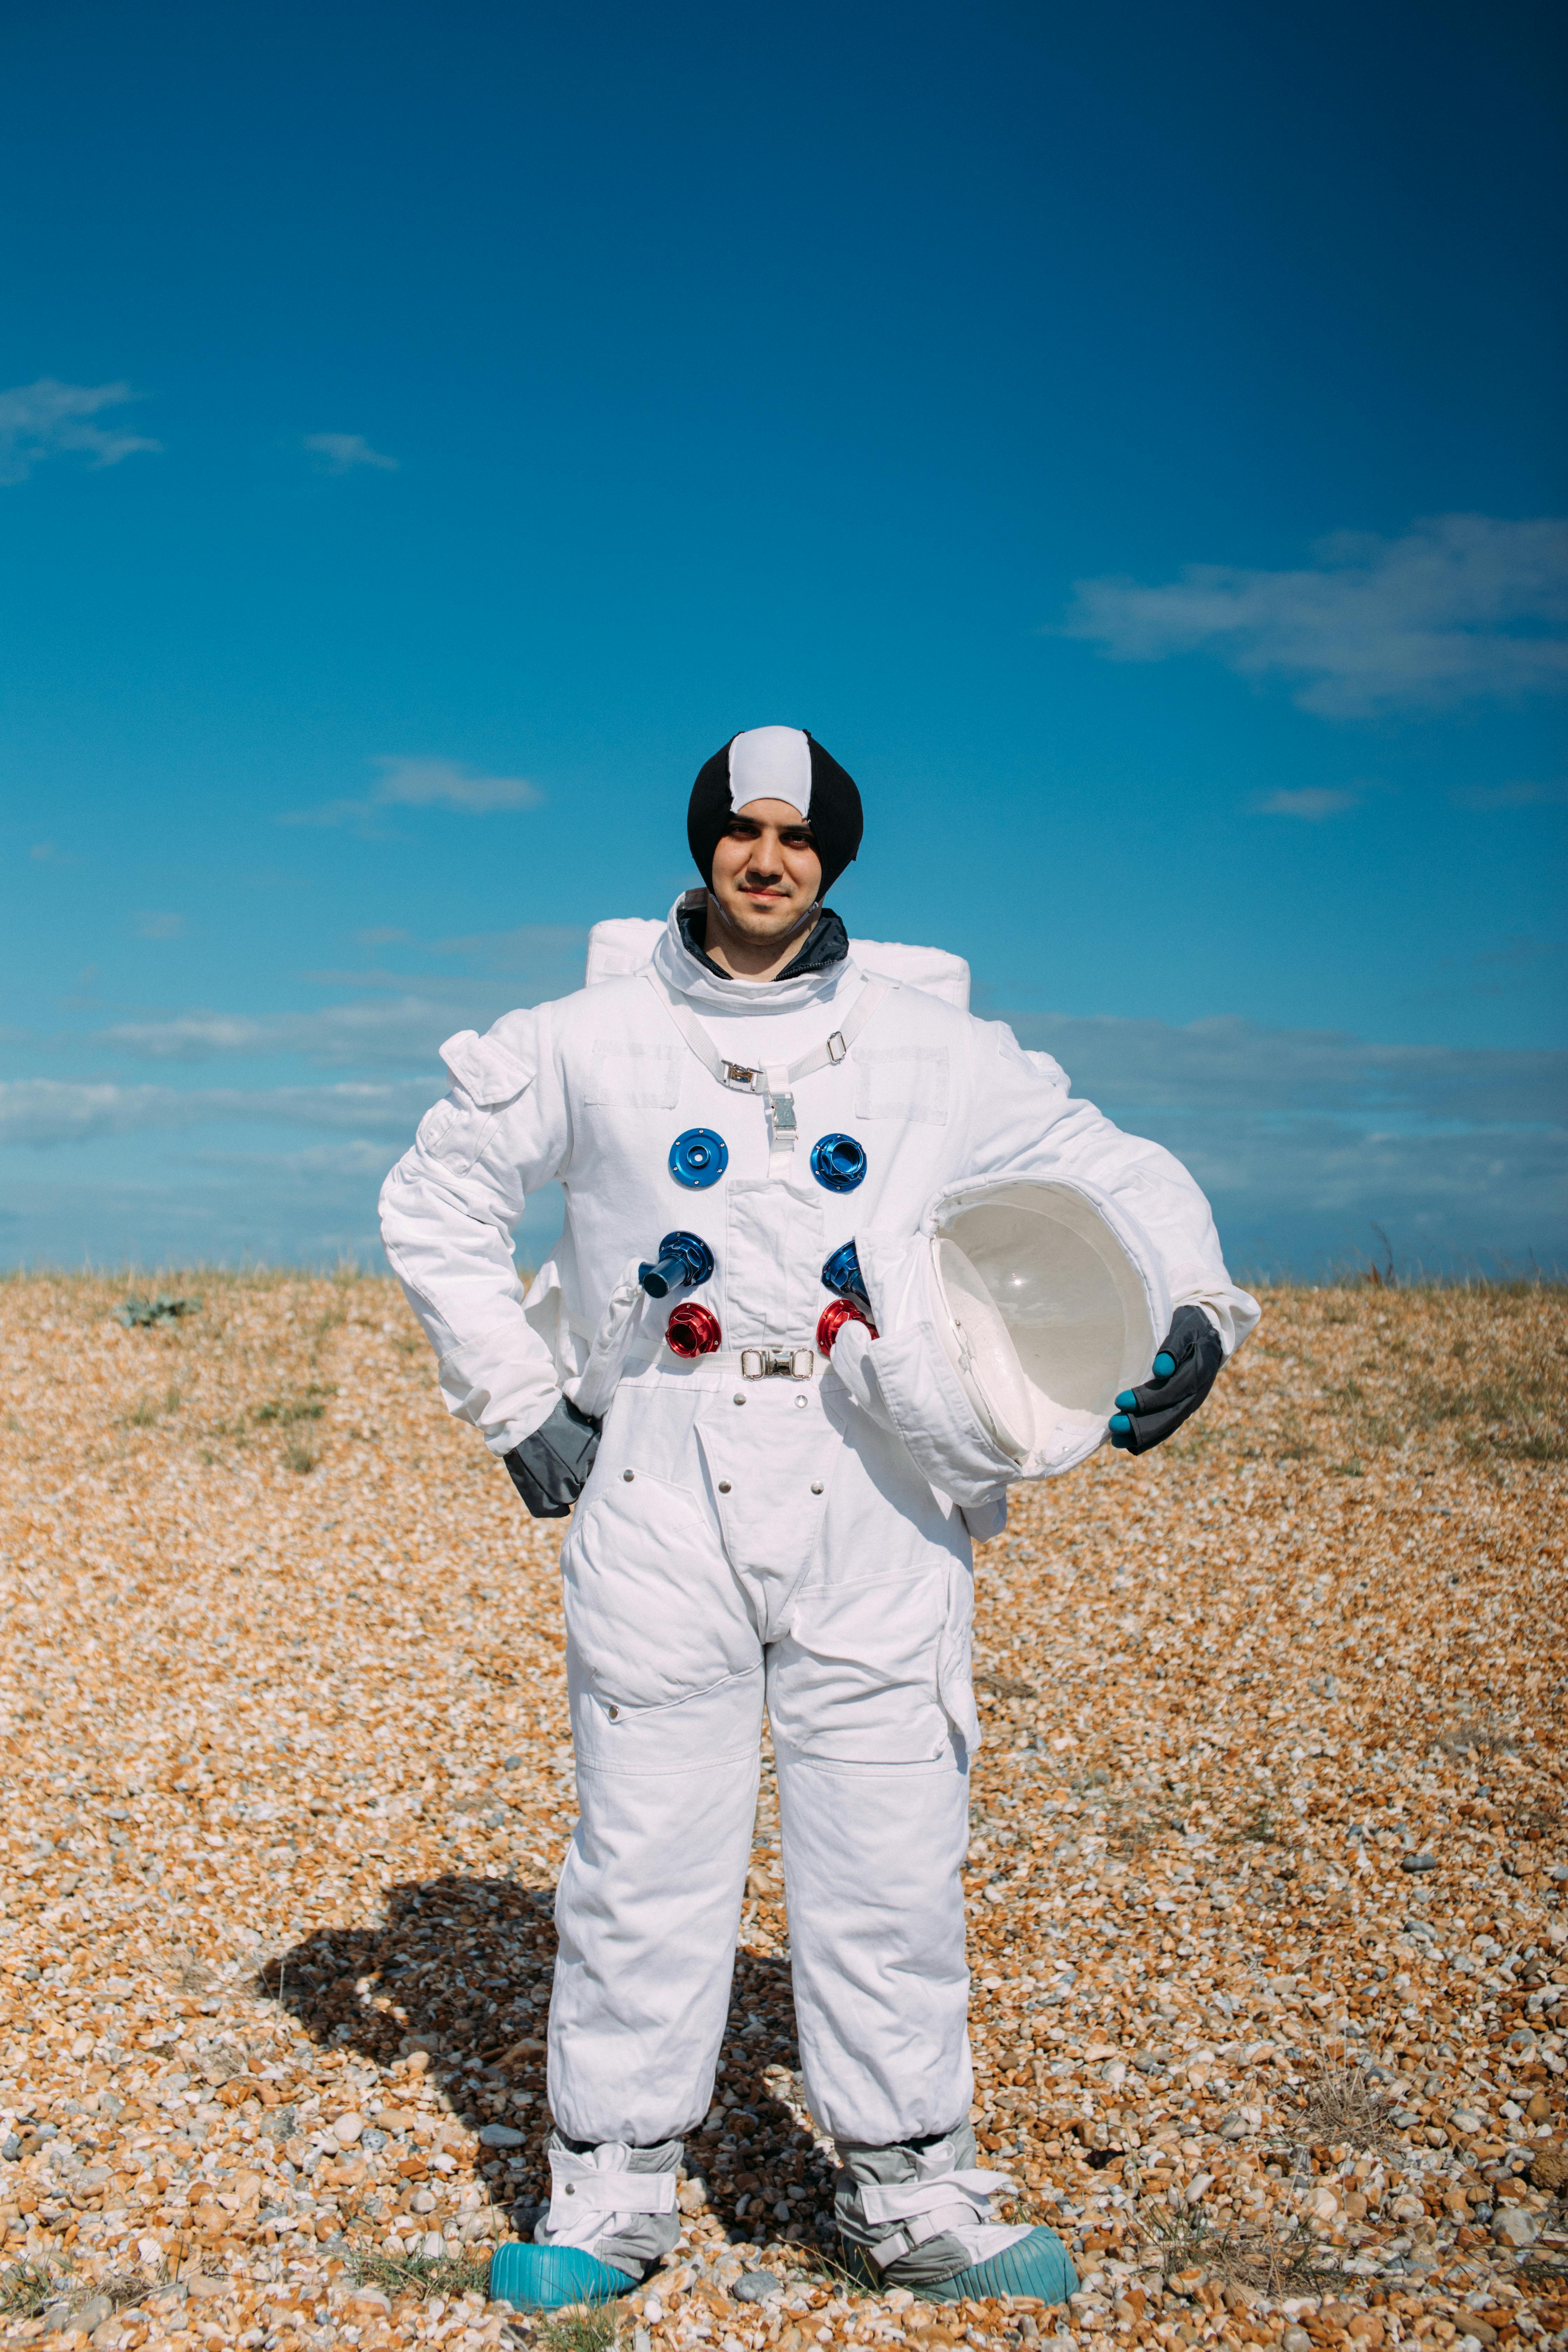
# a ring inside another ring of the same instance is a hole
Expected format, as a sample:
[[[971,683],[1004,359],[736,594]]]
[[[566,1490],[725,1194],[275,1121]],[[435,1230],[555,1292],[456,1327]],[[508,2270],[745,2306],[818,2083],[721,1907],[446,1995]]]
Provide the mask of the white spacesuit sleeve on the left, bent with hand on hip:
[[[461,1030],[442,1061],[451,1091],[381,1188],[381,1240],[435,1348],[447,1411],[510,1454],[559,1402],[512,1261],[527,1197],[562,1174],[569,1145],[548,1007],[508,1014],[487,1037]]]

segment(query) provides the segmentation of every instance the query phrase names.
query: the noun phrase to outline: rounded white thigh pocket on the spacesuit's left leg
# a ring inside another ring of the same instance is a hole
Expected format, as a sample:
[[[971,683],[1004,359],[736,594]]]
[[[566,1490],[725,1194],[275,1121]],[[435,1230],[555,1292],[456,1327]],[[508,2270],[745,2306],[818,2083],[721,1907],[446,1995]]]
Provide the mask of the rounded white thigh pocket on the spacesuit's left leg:
[[[607,1700],[668,1708],[762,1658],[712,1519],[646,1470],[611,1475],[578,1505],[562,1585],[567,1632]]]

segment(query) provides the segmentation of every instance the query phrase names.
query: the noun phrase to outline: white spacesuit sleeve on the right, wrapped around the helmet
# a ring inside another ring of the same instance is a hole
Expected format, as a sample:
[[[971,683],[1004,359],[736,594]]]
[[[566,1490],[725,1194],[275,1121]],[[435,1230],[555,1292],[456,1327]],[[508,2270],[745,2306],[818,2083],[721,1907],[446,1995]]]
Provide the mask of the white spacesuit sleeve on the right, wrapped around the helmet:
[[[1070,1091],[1048,1054],[1027,1054],[1004,1021],[976,1023],[976,1176],[1084,1176],[1110,1192],[1164,1258],[1171,1305],[1204,1308],[1229,1357],[1262,1308],[1225,1272],[1204,1192],[1161,1143],[1128,1136]]]

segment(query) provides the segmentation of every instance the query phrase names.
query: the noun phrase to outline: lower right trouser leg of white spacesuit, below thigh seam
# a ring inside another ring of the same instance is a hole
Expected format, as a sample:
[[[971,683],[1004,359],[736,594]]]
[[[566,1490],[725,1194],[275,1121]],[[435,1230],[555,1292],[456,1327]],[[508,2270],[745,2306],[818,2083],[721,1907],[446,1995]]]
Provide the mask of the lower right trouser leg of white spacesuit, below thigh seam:
[[[778,1736],[778,1811],[806,2100],[870,2147],[969,2114],[969,1759],[844,1764]]]

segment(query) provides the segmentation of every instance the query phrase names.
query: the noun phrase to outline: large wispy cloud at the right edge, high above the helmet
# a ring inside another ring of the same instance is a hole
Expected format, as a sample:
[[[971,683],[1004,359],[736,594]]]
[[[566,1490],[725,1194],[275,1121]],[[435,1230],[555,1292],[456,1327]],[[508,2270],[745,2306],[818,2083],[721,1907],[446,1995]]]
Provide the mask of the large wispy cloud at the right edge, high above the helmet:
[[[1432,710],[1568,684],[1568,522],[1436,515],[1403,539],[1335,532],[1307,572],[1187,564],[1180,581],[1074,583],[1060,633],[1114,661],[1215,654],[1298,680],[1324,717]]]

